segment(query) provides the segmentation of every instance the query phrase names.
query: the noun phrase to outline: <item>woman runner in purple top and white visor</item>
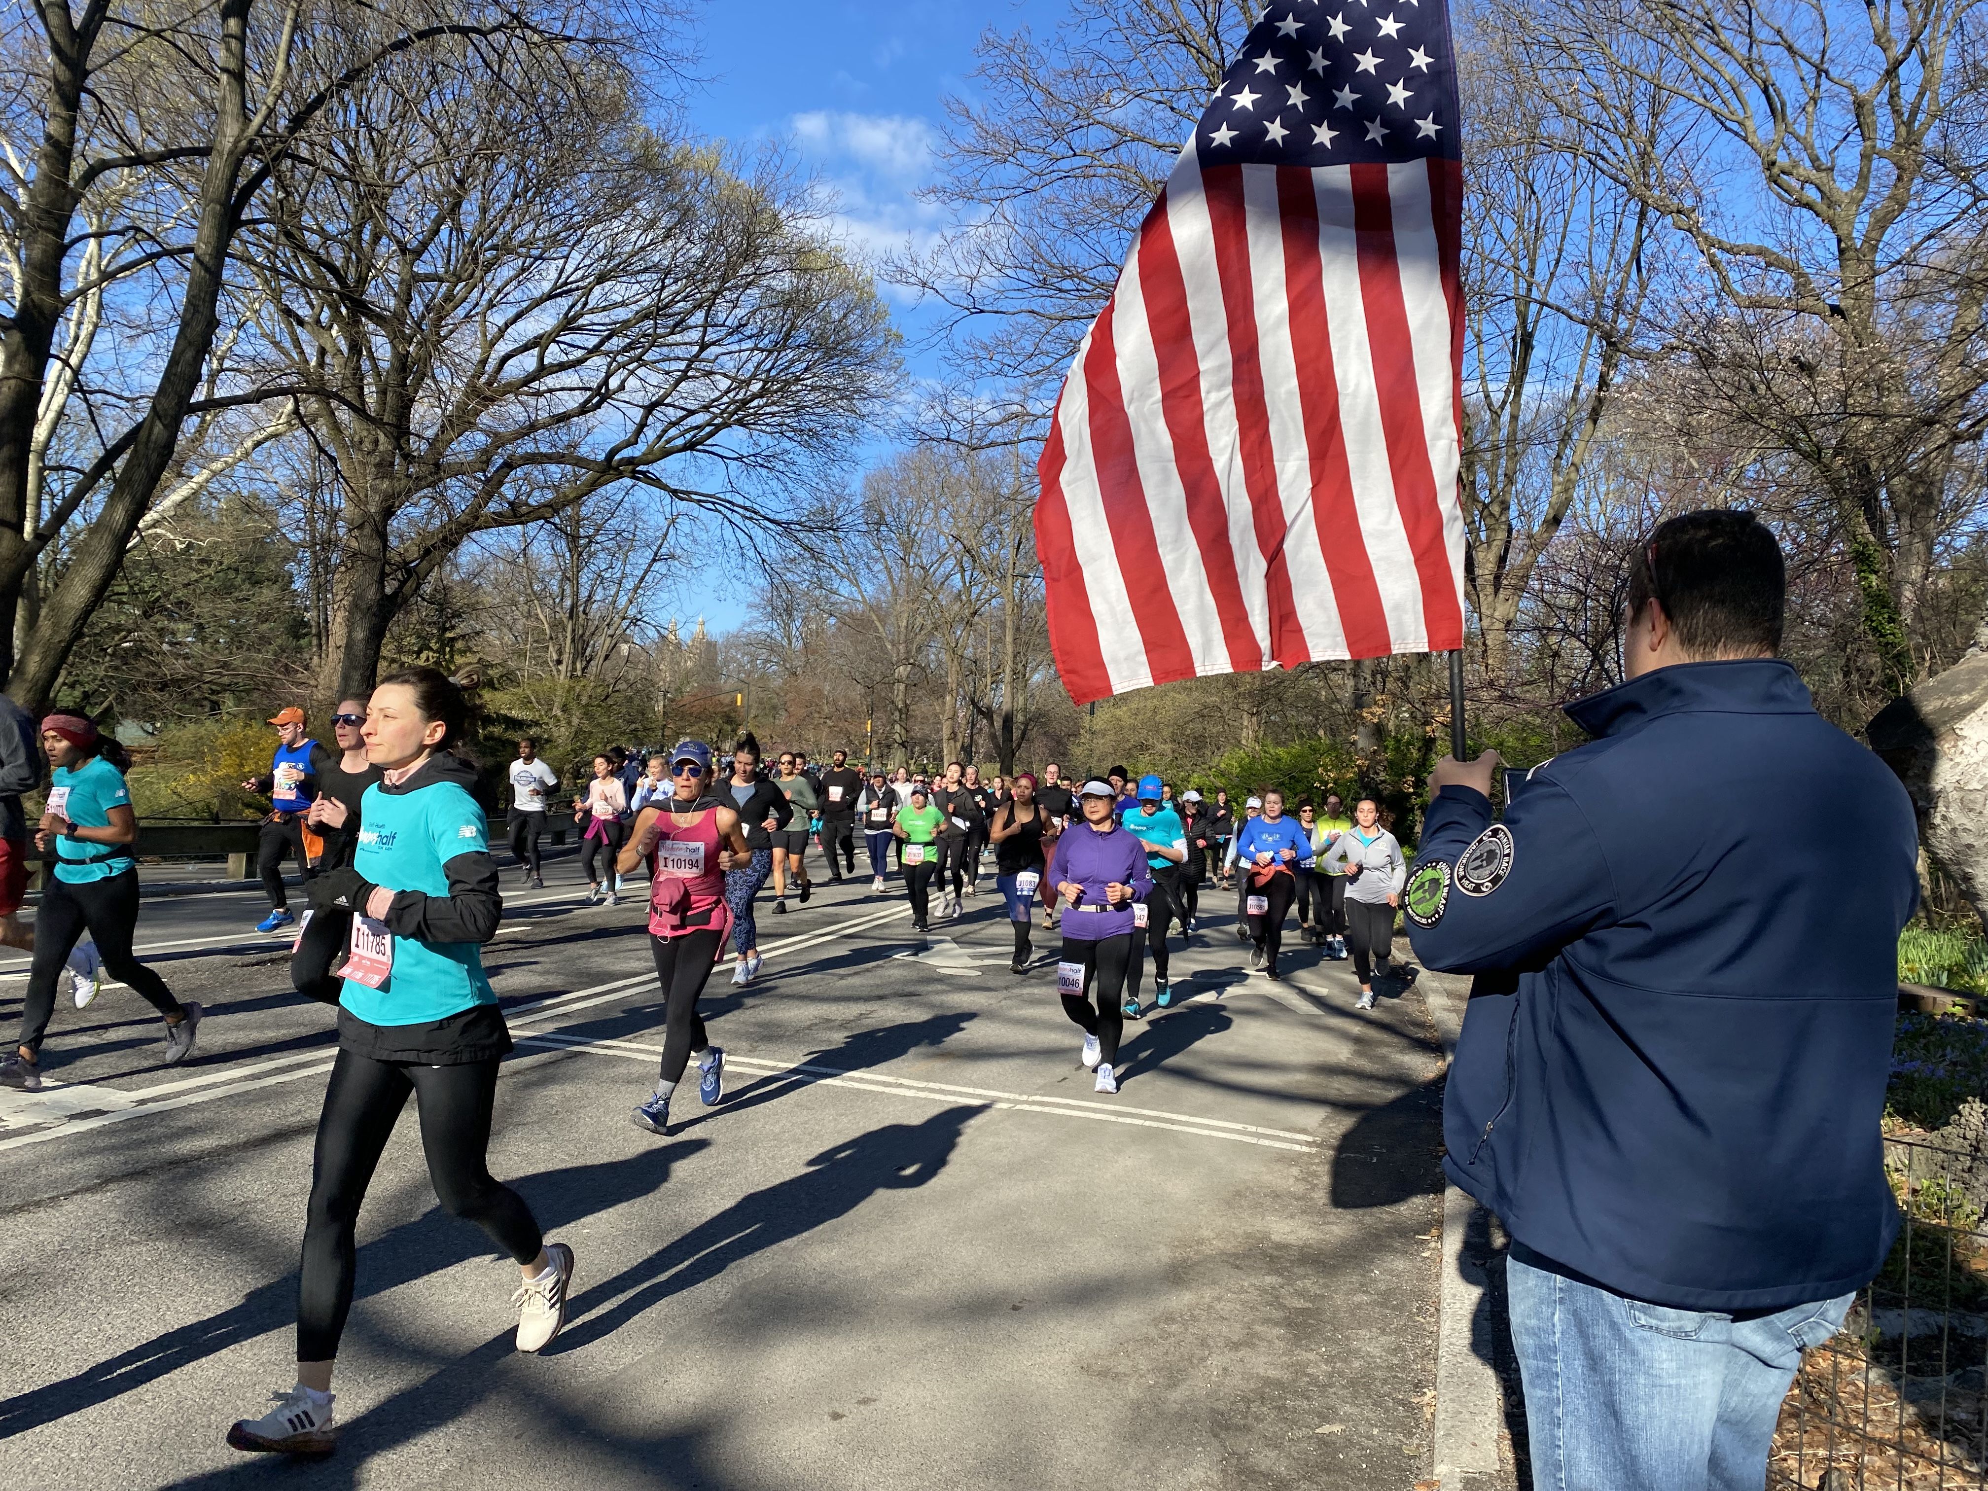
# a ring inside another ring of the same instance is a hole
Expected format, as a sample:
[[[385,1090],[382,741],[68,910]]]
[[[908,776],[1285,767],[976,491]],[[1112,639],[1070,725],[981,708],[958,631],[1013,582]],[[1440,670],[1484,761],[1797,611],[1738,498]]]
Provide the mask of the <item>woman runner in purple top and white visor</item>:
[[[1153,889],[1145,845],[1111,817],[1115,795],[1107,781],[1083,783],[1083,821],[1056,841],[1048,873],[1064,911],[1056,992],[1064,1014],[1083,1026],[1083,1066],[1097,1070],[1097,1091],[1117,1091],[1111,1064],[1125,1028],[1119,998],[1131,966],[1133,907]],[[1085,998],[1087,978],[1095,980],[1095,1008]]]

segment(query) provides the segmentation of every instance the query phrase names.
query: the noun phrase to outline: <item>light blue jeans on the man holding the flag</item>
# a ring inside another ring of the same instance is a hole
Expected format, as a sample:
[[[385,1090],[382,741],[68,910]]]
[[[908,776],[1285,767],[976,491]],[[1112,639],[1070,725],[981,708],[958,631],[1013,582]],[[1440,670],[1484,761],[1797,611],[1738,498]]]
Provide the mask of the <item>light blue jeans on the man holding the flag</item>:
[[[1505,1258],[1537,1491],[1761,1491],[1801,1352],[1855,1294],[1757,1320],[1672,1310]]]

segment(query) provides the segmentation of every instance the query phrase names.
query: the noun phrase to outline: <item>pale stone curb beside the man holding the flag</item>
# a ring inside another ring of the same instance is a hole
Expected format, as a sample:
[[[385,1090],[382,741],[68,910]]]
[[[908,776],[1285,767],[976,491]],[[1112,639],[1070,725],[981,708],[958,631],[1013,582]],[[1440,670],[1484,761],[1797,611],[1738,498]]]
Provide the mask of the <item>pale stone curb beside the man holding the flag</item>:
[[[1455,1060],[1463,1030],[1465,988],[1443,974],[1417,980],[1429,1022],[1443,1044],[1445,1066]],[[1505,1423],[1503,1394],[1491,1370],[1491,1326],[1481,1310],[1485,1294],[1483,1250],[1491,1215],[1457,1187],[1443,1185],[1443,1282],[1435,1330],[1435,1485],[1441,1491],[1487,1491],[1507,1485],[1499,1459]],[[1483,1338],[1483,1340],[1479,1340]]]

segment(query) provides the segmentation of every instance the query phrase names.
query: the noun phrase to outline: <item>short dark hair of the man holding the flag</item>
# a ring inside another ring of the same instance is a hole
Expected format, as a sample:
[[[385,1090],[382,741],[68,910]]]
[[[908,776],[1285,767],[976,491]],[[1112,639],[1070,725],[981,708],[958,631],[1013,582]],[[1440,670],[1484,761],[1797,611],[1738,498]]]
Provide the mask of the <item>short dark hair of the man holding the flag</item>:
[[[1787,569],[1773,531],[1747,511],[1708,507],[1658,523],[1628,565],[1628,610],[1656,600],[1694,658],[1781,650]]]

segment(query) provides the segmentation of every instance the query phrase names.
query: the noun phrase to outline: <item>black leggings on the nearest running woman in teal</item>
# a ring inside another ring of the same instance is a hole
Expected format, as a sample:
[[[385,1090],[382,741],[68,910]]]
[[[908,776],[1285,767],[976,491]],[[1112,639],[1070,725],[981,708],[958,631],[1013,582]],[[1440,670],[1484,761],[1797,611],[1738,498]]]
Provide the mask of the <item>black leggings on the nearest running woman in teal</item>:
[[[545,1239],[531,1207],[491,1179],[483,1163],[491,1139],[497,1058],[467,1066],[374,1062],[340,1050],[318,1117],[310,1163],[304,1262],[296,1280],[296,1360],[330,1362],[352,1310],[358,1248],[352,1233],[394,1121],[415,1093],[421,1153],[435,1197],[455,1217],[483,1227],[515,1262],[539,1256]]]

